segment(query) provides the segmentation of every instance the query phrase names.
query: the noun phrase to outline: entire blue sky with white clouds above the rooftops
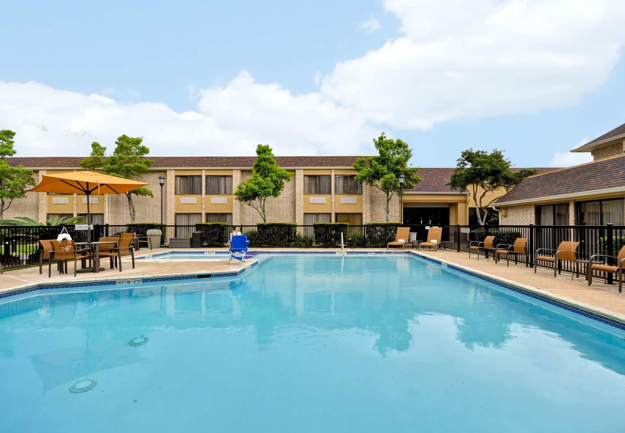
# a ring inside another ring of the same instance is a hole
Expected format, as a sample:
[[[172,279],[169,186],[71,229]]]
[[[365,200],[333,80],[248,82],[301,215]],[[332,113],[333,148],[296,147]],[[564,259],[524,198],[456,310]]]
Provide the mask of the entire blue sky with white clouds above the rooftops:
[[[16,156],[141,136],[153,156],[503,149],[518,167],[625,122],[625,2],[2,2],[0,129]],[[8,19],[7,19],[8,17]]]

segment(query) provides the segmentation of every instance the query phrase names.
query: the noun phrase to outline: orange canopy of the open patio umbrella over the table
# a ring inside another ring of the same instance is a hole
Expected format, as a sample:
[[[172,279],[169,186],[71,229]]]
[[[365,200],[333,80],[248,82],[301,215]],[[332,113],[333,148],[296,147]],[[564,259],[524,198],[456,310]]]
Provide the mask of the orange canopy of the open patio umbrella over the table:
[[[123,194],[146,185],[148,184],[145,182],[131,181],[94,171],[71,171],[44,174],[41,182],[27,191],[61,194]]]

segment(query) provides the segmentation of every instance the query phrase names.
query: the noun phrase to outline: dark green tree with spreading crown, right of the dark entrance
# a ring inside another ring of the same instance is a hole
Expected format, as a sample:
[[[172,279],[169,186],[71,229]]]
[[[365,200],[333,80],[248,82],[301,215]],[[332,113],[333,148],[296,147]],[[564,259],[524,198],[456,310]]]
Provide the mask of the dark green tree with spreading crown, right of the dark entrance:
[[[504,152],[497,149],[492,149],[491,153],[468,149],[457,159],[456,169],[447,185],[459,192],[469,189],[480,226],[486,224],[487,207],[497,199],[493,192],[501,188],[510,191],[527,176],[537,173],[533,169],[512,171],[511,165]]]

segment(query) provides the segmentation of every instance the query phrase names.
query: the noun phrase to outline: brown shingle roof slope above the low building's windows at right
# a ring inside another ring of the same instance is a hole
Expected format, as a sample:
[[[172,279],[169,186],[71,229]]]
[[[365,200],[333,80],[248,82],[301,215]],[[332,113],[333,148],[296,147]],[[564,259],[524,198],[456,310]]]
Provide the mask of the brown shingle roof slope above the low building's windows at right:
[[[527,177],[497,204],[611,188],[625,189],[625,155]]]

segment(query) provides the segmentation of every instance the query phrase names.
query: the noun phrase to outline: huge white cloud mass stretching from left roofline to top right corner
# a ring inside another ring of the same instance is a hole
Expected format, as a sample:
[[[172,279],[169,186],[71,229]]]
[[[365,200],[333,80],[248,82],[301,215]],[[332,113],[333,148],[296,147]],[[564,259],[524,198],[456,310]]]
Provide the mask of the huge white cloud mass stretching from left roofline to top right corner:
[[[189,87],[196,110],[176,112],[119,102],[113,92],[0,82],[0,125],[18,133],[21,155],[84,154],[89,141],[111,146],[123,133],[144,136],[153,154],[250,154],[258,142],[279,154],[357,153],[371,151],[371,137],[389,127],[428,129],[576,102],[601,86],[625,44],[621,0],[384,6],[402,36],[312,77],[317,92],[295,94],[242,71],[225,85]],[[554,164],[566,165],[564,155]]]

